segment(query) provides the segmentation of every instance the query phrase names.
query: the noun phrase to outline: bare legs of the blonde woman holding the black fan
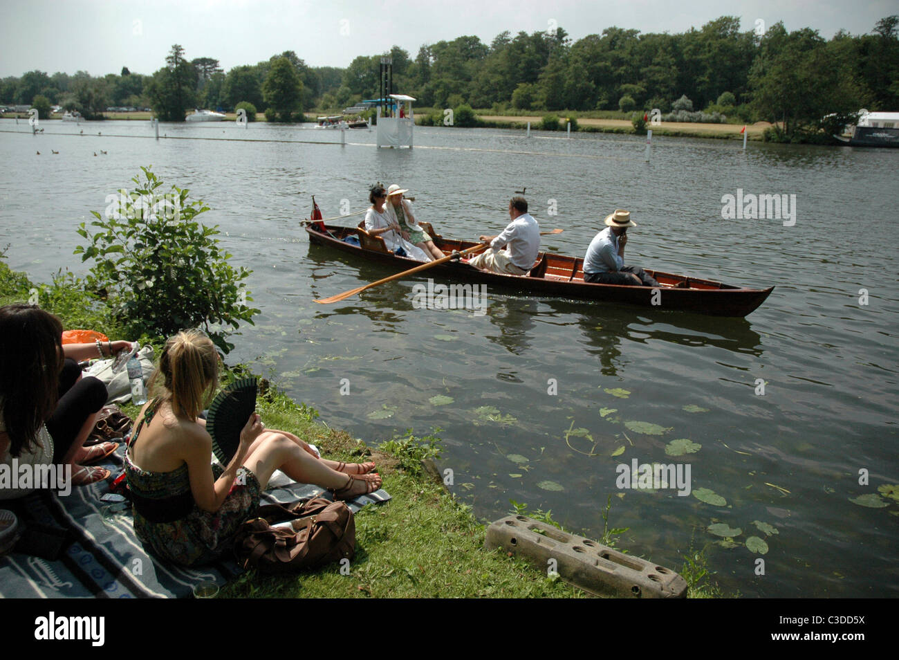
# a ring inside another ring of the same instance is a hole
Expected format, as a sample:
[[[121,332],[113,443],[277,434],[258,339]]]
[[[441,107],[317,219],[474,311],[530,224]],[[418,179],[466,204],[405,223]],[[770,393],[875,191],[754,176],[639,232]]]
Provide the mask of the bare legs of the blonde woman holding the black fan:
[[[316,459],[281,433],[266,433],[262,442],[254,442],[251,447],[253,450],[244,465],[253,471],[263,489],[268,486],[276,469],[282,470],[294,481],[328,489],[340,489],[349,483],[346,474],[329,468],[325,461]],[[362,475],[353,479],[352,483],[358,484],[359,494],[362,494],[369,490],[369,483],[380,487],[381,477],[377,474]]]

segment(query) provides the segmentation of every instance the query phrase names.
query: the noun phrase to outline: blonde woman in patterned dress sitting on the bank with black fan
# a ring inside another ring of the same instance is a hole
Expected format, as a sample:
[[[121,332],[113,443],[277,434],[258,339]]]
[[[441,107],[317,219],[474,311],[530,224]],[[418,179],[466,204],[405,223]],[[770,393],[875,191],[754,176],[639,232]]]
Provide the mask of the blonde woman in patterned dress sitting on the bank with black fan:
[[[296,435],[266,430],[255,414],[227,467],[212,466],[212,438],[198,415],[218,386],[218,362],[214,344],[199,331],[169,339],[150,379],[153,397],[125,453],[138,539],[184,566],[207,563],[230,548],[276,469],[328,488],[337,499],[381,486],[371,472],[374,463],[319,459]]]

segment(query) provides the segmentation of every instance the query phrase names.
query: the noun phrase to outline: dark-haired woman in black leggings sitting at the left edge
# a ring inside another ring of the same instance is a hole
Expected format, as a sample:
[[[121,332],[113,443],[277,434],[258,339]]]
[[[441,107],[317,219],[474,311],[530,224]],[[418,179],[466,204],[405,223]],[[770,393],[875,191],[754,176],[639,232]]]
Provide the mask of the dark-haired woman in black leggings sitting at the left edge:
[[[71,465],[72,483],[92,484],[110,471],[85,463],[116,450],[115,442],[85,448],[106,402],[106,386],[81,378],[78,360],[98,352],[112,355],[128,342],[62,344],[62,324],[31,305],[0,308],[0,465]],[[105,351],[105,352],[104,352]],[[39,487],[0,488],[0,499],[27,495]]]

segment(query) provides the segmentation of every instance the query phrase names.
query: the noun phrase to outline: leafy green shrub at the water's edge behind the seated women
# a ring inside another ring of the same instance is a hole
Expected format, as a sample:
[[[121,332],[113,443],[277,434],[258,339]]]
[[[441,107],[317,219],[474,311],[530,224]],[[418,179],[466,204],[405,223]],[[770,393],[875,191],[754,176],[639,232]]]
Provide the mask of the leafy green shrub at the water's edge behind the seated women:
[[[75,254],[93,259],[87,288],[108,299],[117,318],[130,334],[167,337],[184,328],[201,327],[222,352],[234,344],[226,341],[240,321],[253,324],[259,309],[243,281],[251,271],[234,269],[221,250],[217,227],[206,227],[196,217],[207,210],[202,201],[188,201],[189,192],[163,186],[148,167],[135,176],[132,192],[107,195],[103,215],[81,223],[78,234],[87,240]]]

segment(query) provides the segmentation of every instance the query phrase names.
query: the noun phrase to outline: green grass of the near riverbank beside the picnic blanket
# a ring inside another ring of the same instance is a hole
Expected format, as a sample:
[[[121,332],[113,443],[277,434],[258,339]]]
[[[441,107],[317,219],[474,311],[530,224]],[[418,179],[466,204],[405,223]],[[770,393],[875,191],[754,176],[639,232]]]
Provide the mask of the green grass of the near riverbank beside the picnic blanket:
[[[2,250],[0,250],[2,257]],[[122,338],[120,326],[102,301],[86,292],[71,276],[58,274],[49,284],[34,284],[12,272],[0,258],[0,306],[26,302],[36,293],[40,306],[57,314],[66,328],[91,328]],[[129,337],[134,339],[134,337]],[[159,337],[143,337],[158,349]],[[242,378],[249,370],[227,368],[225,379]],[[122,406],[132,418],[138,407]],[[412,433],[371,448],[349,433],[316,420],[314,409],[298,404],[270,386],[260,395],[257,409],[266,426],[280,428],[310,441],[332,459],[357,462],[373,459],[393,499],[356,514],[356,556],[350,574],[339,566],[313,573],[265,577],[240,575],[222,591],[226,597],[502,597],[580,598],[586,594],[547,577],[524,561],[484,549],[485,524],[442,485],[433,468],[440,441]],[[510,513],[512,509],[510,508]],[[547,519],[547,514],[536,513]],[[614,511],[612,512],[614,516]],[[603,540],[613,542],[611,538]],[[705,557],[690,551],[682,575],[693,597],[717,596],[709,582]]]

